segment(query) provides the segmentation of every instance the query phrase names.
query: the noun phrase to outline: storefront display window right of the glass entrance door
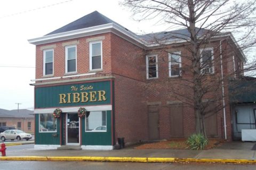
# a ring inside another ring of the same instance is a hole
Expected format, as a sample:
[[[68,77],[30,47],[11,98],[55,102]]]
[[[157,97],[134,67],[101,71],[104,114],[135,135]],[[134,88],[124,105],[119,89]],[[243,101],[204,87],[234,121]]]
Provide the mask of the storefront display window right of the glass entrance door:
[[[87,112],[85,126],[86,132],[107,132],[107,112]]]

